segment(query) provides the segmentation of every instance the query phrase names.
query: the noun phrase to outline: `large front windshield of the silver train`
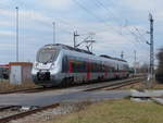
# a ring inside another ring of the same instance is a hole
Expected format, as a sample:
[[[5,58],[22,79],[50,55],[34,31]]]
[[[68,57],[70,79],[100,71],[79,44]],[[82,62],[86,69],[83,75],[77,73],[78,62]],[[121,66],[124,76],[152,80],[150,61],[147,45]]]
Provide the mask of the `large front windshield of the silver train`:
[[[50,63],[55,60],[57,49],[41,49],[37,54],[37,61],[41,63]]]

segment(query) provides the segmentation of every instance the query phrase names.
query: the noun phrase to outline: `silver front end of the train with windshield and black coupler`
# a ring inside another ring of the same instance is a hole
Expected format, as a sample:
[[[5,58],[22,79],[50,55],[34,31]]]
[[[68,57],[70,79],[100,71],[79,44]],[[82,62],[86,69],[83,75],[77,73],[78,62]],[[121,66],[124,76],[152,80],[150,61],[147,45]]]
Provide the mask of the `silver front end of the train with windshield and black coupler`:
[[[60,50],[53,45],[46,46],[37,52],[36,62],[32,70],[33,81],[36,85],[50,87],[60,83],[59,53]]]

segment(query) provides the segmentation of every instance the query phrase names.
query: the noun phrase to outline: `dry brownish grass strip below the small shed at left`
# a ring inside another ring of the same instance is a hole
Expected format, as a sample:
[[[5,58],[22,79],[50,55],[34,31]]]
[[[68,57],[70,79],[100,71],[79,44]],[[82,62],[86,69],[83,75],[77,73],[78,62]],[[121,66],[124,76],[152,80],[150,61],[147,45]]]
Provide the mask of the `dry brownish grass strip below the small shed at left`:
[[[37,86],[33,82],[26,82],[21,85],[12,85],[9,83],[9,81],[0,82],[0,93],[28,89],[28,88],[35,88],[35,87]]]

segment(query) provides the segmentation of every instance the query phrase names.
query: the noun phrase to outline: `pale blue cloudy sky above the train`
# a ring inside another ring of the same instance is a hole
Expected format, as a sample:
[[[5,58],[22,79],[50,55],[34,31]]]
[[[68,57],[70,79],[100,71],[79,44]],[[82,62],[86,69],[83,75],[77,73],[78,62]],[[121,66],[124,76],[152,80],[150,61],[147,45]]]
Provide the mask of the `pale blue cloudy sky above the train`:
[[[92,52],[134,63],[149,63],[149,13],[154,19],[154,53],[163,47],[162,0],[0,0],[0,64],[16,61],[16,7],[18,7],[20,61],[34,62],[39,48],[53,44],[73,46],[91,35]],[[86,49],[83,44],[79,48]],[[156,58],[155,58],[156,59]]]

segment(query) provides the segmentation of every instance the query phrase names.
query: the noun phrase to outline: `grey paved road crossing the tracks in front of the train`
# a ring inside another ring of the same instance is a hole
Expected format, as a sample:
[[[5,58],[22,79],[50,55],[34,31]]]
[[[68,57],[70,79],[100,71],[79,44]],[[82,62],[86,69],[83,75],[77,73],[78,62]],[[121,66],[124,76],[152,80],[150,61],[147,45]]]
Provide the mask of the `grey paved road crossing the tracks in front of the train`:
[[[0,95],[0,106],[47,106],[54,102],[84,100],[122,99],[130,95],[129,90],[97,91],[46,91],[32,94]]]

